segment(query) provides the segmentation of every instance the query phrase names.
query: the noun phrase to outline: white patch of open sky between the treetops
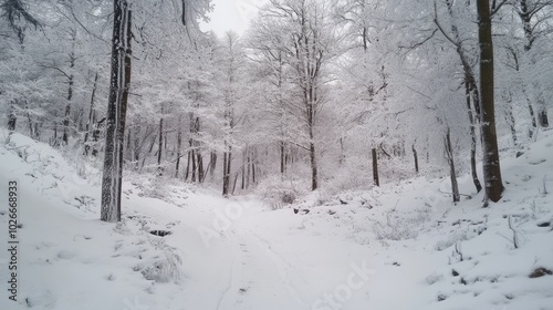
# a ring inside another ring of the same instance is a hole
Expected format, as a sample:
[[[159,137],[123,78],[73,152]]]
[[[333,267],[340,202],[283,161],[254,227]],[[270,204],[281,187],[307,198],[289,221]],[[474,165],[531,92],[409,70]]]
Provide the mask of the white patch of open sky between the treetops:
[[[221,37],[225,32],[233,30],[242,34],[250,20],[258,12],[264,0],[212,0],[215,10],[209,14],[209,24],[201,24],[202,30],[212,30]]]

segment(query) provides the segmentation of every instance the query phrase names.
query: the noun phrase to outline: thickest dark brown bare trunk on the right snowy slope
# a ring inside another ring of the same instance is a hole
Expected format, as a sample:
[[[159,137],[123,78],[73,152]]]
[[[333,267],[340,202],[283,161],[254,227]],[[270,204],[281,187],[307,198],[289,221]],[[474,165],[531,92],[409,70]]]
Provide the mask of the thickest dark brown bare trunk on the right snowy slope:
[[[501,199],[503,183],[499,162],[493,102],[493,41],[489,0],[477,0],[478,41],[480,44],[481,134],[486,199]]]

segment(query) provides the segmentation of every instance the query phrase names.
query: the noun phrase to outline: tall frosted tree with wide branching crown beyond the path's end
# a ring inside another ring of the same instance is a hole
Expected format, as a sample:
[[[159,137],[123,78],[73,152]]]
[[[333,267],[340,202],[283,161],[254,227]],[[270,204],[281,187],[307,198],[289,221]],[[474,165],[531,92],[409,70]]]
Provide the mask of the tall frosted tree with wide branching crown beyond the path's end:
[[[293,89],[288,102],[290,108],[284,111],[295,118],[298,131],[288,135],[294,137],[291,143],[309,154],[312,190],[319,187],[316,132],[319,116],[327,102],[326,70],[338,43],[328,14],[332,4],[332,1],[271,0],[261,9],[252,34],[261,39],[254,48],[264,52],[264,61],[271,63],[269,68],[285,64],[290,69],[289,82]]]

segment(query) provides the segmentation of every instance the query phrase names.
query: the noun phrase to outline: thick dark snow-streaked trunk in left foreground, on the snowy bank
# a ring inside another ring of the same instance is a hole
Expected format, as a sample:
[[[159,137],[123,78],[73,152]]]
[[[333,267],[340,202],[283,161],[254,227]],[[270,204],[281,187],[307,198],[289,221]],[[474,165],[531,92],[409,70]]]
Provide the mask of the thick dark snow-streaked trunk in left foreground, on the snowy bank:
[[[131,84],[131,21],[127,0],[114,0],[112,71],[107,103],[104,170],[102,176],[101,220],[121,220],[123,141]]]

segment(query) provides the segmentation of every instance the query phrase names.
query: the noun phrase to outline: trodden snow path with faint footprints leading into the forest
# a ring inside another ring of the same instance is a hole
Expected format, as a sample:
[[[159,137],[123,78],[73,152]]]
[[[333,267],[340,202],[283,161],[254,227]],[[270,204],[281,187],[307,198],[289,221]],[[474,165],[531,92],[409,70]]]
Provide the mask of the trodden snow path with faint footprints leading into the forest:
[[[259,226],[251,225],[262,211],[262,203],[247,200],[237,205],[241,216],[226,234],[232,249],[230,281],[218,309],[309,309],[292,281],[298,267],[271,249],[271,242],[255,231]]]

